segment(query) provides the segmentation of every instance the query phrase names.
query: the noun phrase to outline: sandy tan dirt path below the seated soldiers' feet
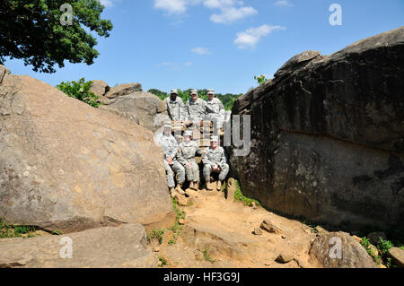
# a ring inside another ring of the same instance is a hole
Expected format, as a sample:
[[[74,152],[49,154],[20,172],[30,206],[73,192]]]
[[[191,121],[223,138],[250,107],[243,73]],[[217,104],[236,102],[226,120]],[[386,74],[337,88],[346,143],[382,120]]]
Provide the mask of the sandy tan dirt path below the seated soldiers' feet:
[[[223,192],[191,192],[191,205],[181,207],[187,223],[171,246],[154,247],[155,256],[168,267],[314,267],[309,247],[316,233],[300,221],[289,220],[258,207],[226,200]],[[262,221],[281,229],[280,233],[262,230]],[[166,241],[163,241],[165,244]],[[204,255],[205,252],[205,255]],[[286,263],[278,261],[282,255]],[[290,260],[290,261],[289,261]],[[215,262],[214,262],[215,261]]]

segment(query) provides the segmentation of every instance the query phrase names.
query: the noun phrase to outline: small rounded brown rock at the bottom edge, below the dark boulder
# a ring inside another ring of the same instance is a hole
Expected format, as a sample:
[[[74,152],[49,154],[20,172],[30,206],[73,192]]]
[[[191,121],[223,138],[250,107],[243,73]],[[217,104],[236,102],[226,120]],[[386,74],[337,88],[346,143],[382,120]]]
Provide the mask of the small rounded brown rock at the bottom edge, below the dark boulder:
[[[355,238],[346,232],[330,232],[312,242],[309,255],[312,263],[324,268],[375,268],[368,255]]]

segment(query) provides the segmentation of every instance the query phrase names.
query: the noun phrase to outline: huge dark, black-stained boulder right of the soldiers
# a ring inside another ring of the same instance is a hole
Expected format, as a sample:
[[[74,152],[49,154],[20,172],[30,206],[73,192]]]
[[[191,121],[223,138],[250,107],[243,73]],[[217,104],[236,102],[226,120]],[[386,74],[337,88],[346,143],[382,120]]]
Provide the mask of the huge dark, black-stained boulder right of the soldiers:
[[[404,230],[404,27],[315,55],[235,101],[251,117],[250,154],[228,150],[243,194],[346,229]]]

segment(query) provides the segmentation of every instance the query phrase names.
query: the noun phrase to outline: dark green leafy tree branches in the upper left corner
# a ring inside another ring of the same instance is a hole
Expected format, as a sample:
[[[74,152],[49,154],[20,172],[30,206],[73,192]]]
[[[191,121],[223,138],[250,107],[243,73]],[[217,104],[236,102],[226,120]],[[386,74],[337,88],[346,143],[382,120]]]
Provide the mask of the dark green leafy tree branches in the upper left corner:
[[[63,4],[71,5],[71,17]],[[107,38],[112,30],[110,20],[101,19],[103,9],[98,0],[1,0],[0,64],[21,58],[42,73],[55,73],[54,65],[65,60],[92,65],[99,52],[91,32]]]

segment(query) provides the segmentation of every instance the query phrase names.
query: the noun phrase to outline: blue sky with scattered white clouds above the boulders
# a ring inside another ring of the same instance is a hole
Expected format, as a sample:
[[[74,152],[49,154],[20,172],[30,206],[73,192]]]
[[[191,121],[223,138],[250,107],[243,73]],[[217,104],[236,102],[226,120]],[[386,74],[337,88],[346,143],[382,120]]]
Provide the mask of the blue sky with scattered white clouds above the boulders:
[[[93,65],[66,63],[40,74],[7,60],[13,74],[56,85],[103,80],[110,86],[140,82],[157,88],[213,88],[244,93],[291,56],[313,49],[330,55],[404,24],[404,1],[365,0],[102,0],[102,17],[114,24],[98,39]],[[342,25],[329,24],[330,4],[342,8]]]

